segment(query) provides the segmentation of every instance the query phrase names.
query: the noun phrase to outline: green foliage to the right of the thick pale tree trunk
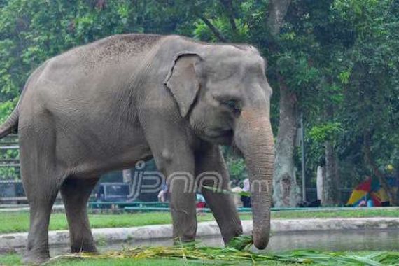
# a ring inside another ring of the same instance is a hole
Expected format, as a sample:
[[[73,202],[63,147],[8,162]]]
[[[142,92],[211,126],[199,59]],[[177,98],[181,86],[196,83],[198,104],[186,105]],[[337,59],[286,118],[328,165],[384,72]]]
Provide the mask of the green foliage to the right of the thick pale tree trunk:
[[[288,62],[293,56],[307,58],[317,71],[308,78],[303,63],[280,66],[288,69],[284,77],[306,118],[308,176],[323,165],[324,141],[335,143],[340,172],[353,181],[346,186],[372,174],[363,160],[366,131],[372,132],[377,165],[398,167],[399,123],[393,116],[399,110],[398,10],[398,1],[391,0],[294,1],[290,6],[279,45],[288,48]],[[301,87],[299,80],[311,82]]]

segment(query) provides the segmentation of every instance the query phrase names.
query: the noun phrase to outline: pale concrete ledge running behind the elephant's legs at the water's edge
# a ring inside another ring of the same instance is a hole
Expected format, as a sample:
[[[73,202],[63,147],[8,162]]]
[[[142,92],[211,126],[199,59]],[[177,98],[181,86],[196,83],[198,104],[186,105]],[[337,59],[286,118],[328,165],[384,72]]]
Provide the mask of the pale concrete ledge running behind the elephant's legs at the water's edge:
[[[244,234],[251,234],[252,221],[242,221]],[[293,219],[272,220],[272,232],[304,232],[321,230],[360,230],[399,228],[399,218],[332,218],[332,219]],[[92,229],[95,241],[128,241],[172,239],[172,225],[148,225],[133,228]],[[198,223],[197,237],[218,237],[221,232],[216,222]],[[0,251],[11,251],[25,247],[26,232],[0,235]],[[67,230],[50,231],[50,246],[69,245]]]

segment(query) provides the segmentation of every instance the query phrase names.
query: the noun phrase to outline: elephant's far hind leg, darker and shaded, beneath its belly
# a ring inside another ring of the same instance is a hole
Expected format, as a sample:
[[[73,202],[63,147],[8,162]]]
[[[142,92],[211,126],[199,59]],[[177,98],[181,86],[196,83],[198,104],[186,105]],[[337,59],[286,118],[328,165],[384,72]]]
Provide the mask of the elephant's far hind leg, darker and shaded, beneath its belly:
[[[62,200],[66,209],[71,239],[71,252],[97,252],[89,218],[87,200],[99,179],[67,178],[61,186]]]

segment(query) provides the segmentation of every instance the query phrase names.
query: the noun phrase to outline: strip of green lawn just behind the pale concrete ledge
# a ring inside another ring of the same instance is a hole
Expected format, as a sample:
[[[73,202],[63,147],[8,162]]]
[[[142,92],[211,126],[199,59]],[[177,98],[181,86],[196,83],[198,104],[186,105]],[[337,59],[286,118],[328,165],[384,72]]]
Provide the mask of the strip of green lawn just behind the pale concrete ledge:
[[[251,219],[251,214],[241,214],[242,220]],[[198,221],[214,220],[211,214],[200,214]],[[328,211],[273,211],[272,219],[288,218],[360,218],[360,217],[399,217],[399,209],[342,209]],[[90,214],[92,228],[116,228],[140,225],[160,225],[172,223],[169,212],[136,213],[136,214]],[[0,233],[27,232],[29,228],[29,213],[0,212]],[[52,214],[50,230],[66,230],[65,214]]]

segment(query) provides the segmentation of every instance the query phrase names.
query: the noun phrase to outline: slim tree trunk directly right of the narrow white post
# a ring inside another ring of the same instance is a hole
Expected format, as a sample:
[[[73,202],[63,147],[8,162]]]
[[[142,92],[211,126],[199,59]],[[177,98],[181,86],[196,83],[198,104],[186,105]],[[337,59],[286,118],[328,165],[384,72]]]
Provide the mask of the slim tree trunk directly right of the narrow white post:
[[[333,141],[325,141],[325,179],[323,180],[323,197],[321,204],[331,206],[339,204],[339,174],[337,156]]]

